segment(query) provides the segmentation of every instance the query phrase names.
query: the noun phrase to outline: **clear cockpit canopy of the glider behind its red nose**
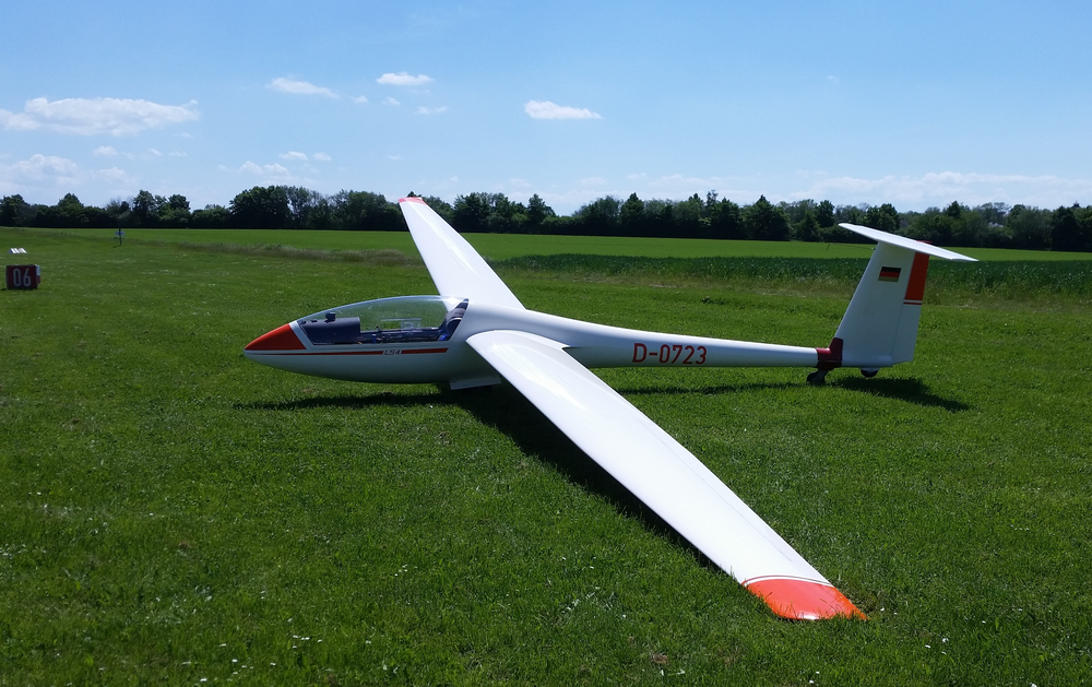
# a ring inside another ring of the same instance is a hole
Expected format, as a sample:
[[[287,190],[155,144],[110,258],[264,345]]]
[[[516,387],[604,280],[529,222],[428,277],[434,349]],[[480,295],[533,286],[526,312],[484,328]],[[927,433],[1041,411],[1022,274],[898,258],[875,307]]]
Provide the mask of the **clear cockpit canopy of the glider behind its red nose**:
[[[399,296],[329,308],[297,322],[316,345],[448,341],[467,305],[442,296]]]

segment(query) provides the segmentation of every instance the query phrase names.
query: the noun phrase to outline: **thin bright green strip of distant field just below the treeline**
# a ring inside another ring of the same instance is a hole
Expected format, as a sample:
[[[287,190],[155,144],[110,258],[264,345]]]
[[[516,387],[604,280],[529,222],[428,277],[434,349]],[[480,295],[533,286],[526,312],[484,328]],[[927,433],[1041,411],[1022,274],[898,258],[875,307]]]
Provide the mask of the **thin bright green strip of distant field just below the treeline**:
[[[62,229],[78,235],[114,238],[114,229]],[[805,244],[800,241],[722,241],[693,238],[629,238],[602,236],[517,236],[466,234],[490,260],[523,256],[577,253],[630,258],[867,258],[871,244]],[[416,254],[408,232],[299,232],[292,229],[126,229],[127,241],[156,240],[238,246],[293,246],[323,250],[394,249]],[[115,239],[117,240],[117,239]],[[1092,253],[996,248],[958,248],[978,260],[1092,260]]]

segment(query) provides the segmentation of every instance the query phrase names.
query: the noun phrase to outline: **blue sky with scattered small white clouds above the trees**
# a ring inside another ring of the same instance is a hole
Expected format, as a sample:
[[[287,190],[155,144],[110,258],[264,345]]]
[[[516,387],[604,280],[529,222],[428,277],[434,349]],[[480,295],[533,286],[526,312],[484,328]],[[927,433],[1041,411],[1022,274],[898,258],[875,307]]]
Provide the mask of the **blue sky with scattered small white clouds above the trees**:
[[[1092,203],[1092,3],[14,2],[0,196]]]

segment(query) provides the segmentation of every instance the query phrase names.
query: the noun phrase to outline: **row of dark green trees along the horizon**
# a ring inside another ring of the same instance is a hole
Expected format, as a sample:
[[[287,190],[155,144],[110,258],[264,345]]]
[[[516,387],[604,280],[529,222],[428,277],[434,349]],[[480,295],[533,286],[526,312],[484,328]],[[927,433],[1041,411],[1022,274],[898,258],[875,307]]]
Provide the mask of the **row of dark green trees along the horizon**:
[[[413,193],[411,193],[413,196]],[[526,203],[503,193],[468,193],[453,204],[425,201],[460,232],[579,236],[840,241],[859,239],[838,227],[863,224],[943,246],[1092,251],[1092,206],[1044,210],[987,203],[971,208],[952,202],[945,209],[899,212],[882,205],[834,205],[823,200],[771,203],[765,197],[739,205],[710,191],[681,201],[637,193],[625,201],[607,196],[558,215],[536,193]],[[140,191],[104,208],[84,205],[69,193],[56,205],[29,204],[20,196],[0,201],[0,226],[295,228],[401,230],[397,203],[380,193],[339,191],[324,196],[289,186],[254,187],[225,208],[190,210],[185,196],[169,198]]]

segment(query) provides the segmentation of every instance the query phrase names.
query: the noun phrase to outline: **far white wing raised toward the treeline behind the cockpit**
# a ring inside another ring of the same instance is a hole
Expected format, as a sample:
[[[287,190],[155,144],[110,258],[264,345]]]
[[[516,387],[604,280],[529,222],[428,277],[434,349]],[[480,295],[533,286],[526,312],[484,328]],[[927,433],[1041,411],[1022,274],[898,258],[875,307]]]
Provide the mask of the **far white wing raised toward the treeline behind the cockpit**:
[[[399,201],[414,244],[441,296],[522,308],[474,247],[419,198]]]

